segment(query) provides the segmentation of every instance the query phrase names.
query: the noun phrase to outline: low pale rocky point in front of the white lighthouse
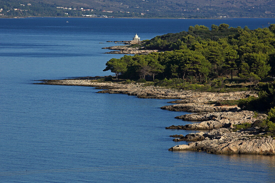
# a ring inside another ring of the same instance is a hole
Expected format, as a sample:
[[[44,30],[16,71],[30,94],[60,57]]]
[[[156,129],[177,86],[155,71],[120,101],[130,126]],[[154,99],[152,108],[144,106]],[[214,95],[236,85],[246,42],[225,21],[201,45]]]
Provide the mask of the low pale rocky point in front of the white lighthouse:
[[[147,50],[147,49],[144,49],[144,47],[131,48],[129,46],[121,46],[121,45],[105,47],[102,49],[119,50],[119,51],[106,52],[108,54],[149,54],[152,52],[159,52],[159,50]]]

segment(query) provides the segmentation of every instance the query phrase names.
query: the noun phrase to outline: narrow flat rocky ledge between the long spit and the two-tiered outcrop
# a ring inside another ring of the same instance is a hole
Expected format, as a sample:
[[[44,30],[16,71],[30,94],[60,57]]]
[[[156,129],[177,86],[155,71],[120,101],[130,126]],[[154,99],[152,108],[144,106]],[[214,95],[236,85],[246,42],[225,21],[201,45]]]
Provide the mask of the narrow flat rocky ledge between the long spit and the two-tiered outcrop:
[[[204,103],[175,104],[171,106],[163,106],[161,109],[170,111],[186,111],[186,112],[221,112],[221,111],[237,111],[237,106],[214,106]]]

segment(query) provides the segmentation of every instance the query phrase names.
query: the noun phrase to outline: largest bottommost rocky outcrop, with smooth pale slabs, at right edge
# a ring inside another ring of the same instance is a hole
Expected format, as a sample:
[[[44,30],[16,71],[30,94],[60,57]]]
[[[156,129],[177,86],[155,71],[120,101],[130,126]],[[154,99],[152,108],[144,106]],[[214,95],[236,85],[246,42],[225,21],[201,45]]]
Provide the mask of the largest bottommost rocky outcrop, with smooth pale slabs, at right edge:
[[[186,138],[195,140],[195,138],[188,136]],[[208,134],[198,134],[196,138],[202,141],[192,142],[188,145],[177,145],[171,147],[169,151],[192,150],[226,154],[275,154],[275,139],[270,136],[257,137],[251,134],[251,130],[231,132],[228,129],[218,129]]]

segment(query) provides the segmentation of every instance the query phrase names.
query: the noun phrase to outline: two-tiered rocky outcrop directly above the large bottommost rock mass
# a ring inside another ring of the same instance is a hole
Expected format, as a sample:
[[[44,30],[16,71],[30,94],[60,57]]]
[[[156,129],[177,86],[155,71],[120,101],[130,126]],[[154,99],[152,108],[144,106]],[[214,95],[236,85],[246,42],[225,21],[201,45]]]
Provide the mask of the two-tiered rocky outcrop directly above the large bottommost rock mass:
[[[185,121],[202,121],[201,123],[193,123],[178,126],[169,126],[166,129],[182,129],[182,130],[202,130],[202,129],[218,129],[218,128],[233,128],[235,124],[254,123],[257,120],[266,118],[265,114],[254,116],[252,111],[236,111],[236,112],[211,112],[211,113],[193,113],[176,118]]]

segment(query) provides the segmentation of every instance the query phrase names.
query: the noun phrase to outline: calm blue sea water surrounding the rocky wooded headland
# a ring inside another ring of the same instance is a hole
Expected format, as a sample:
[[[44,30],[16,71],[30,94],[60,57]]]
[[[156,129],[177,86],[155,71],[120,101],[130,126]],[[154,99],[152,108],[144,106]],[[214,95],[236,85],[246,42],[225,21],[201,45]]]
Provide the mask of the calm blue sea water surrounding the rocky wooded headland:
[[[66,23],[69,21],[69,23]],[[227,23],[275,19],[0,19],[0,182],[275,182],[275,156],[168,151],[186,144],[164,127],[190,122],[166,99],[99,94],[33,80],[105,76],[111,40],[141,39]],[[104,44],[100,44],[103,42]]]

